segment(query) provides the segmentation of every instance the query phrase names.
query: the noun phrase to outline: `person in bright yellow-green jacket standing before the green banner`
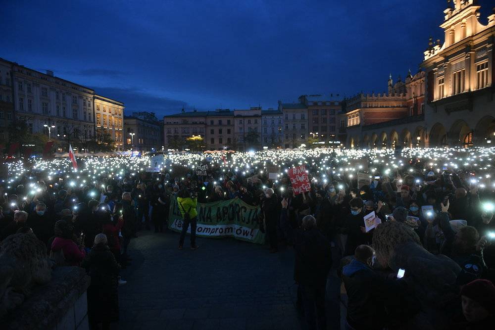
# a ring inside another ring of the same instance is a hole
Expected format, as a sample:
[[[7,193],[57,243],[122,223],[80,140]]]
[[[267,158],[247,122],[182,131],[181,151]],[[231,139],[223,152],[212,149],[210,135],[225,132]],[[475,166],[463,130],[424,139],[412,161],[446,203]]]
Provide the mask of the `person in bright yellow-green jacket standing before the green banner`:
[[[186,237],[186,232],[191,224],[191,250],[196,250],[199,246],[196,245],[196,220],[198,218],[198,212],[196,211],[196,206],[198,205],[198,197],[196,193],[191,196],[191,193],[187,189],[182,189],[177,195],[177,204],[179,206],[179,211],[181,212],[182,219],[182,233],[179,239],[179,250],[182,250],[184,245],[184,238]]]

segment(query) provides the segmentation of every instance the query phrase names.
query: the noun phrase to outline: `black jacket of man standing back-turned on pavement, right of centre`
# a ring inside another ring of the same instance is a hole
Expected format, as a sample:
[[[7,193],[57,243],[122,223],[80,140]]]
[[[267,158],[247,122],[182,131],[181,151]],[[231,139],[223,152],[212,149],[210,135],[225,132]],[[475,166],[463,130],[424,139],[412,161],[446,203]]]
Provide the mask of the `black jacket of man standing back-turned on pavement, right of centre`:
[[[324,284],[332,267],[329,240],[313,228],[297,233],[295,249],[294,280],[309,286]]]

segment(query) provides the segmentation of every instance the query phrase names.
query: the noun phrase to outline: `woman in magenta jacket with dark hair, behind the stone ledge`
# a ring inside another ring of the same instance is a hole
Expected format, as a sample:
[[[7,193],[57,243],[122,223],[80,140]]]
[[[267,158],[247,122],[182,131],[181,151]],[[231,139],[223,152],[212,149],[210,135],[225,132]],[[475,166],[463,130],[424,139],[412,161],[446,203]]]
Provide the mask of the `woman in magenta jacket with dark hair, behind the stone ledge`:
[[[60,252],[63,254],[64,262],[60,259],[57,264],[65,264],[67,266],[79,266],[86,256],[84,251],[84,245],[76,243],[73,240],[74,225],[71,222],[65,220],[59,220],[55,223],[54,228],[55,238],[51,243],[51,255],[57,255]]]

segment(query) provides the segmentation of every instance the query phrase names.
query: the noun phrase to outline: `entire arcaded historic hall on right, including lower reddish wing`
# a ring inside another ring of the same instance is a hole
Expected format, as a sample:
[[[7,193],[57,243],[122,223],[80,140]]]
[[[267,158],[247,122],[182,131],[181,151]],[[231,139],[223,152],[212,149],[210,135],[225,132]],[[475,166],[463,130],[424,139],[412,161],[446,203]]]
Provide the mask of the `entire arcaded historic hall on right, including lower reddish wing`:
[[[421,71],[389,79],[386,95],[345,100],[341,122],[348,147],[470,146],[495,141],[493,86],[495,14],[479,22],[476,0],[447,8],[445,41],[424,52]]]

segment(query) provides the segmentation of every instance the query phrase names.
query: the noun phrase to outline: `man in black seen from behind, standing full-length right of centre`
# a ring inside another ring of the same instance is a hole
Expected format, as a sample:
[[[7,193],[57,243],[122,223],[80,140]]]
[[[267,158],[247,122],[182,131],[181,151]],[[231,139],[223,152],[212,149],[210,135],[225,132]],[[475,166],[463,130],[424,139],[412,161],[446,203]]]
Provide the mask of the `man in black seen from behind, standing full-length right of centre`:
[[[299,284],[308,329],[323,330],[327,329],[325,292],[332,267],[330,241],[316,228],[316,219],[312,215],[302,218],[302,228],[295,244],[294,277]]]

